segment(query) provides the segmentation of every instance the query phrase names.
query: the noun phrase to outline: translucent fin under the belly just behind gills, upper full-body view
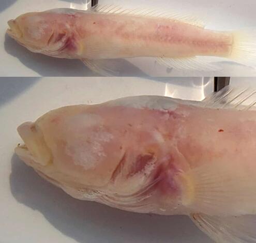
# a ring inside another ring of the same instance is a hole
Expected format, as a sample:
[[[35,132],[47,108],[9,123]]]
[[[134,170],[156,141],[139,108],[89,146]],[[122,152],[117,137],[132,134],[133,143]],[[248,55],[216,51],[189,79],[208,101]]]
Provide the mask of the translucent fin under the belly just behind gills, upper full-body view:
[[[117,59],[82,59],[86,67],[102,75],[114,77],[119,75],[119,63]]]

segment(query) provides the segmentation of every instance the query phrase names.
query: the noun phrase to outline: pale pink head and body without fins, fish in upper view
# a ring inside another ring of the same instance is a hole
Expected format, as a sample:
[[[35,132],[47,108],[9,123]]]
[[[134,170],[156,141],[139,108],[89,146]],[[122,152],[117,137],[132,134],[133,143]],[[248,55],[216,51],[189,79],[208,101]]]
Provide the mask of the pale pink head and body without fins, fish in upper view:
[[[129,14],[53,9],[25,13],[8,23],[7,33],[24,47],[59,58],[234,58],[237,44],[232,32],[211,31],[172,18]],[[239,57],[246,58],[240,53]]]

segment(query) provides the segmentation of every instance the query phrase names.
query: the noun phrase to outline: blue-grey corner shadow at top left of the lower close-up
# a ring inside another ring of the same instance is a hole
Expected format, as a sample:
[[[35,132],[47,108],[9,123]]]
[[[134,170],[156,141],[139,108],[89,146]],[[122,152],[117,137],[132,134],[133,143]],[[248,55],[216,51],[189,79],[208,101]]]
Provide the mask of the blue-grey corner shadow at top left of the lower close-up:
[[[27,88],[38,82],[40,78],[0,78],[0,107],[20,95]]]

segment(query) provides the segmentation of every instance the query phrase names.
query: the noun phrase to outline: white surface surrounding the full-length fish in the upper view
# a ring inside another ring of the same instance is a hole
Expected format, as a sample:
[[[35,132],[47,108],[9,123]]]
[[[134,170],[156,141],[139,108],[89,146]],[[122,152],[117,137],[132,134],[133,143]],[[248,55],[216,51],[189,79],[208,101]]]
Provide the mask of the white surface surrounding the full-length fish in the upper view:
[[[89,0],[88,0],[89,1]],[[84,9],[86,0],[1,0],[0,4],[0,76],[5,77],[52,77],[52,76],[92,76],[80,60],[57,59],[31,53],[9,38],[5,32],[7,21],[29,11],[43,11],[58,7]],[[256,25],[256,1],[254,0],[99,0],[100,4],[114,4],[130,7],[156,7],[177,12],[193,13],[206,17],[206,27],[218,30],[241,29]],[[155,63],[154,59],[132,58],[126,60],[125,71],[121,75],[154,76],[256,76],[256,71],[234,63],[221,63],[222,71],[178,71],[170,70]]]

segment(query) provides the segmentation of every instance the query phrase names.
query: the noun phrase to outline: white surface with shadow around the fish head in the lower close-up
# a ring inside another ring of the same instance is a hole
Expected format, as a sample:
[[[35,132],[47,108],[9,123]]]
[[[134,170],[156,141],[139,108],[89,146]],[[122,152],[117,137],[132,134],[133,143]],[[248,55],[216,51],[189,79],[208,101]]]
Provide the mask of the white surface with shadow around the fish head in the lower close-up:
[[[0,78],[0,242],[212,242],[185,216],[135,214],[73,199],[13,154],[21,142],[17,126],[51,109],[141,94],[201,100],[212,92],[212,81]]]

